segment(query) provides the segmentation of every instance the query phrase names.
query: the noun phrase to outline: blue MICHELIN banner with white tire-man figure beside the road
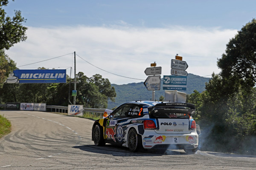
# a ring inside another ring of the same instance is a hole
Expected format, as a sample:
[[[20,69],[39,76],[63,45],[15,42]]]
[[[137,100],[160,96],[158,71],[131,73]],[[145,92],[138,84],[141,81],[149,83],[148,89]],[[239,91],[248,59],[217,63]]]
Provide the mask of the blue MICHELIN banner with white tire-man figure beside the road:
[[[66,83],[65,69],[17,69],[5,83]]]

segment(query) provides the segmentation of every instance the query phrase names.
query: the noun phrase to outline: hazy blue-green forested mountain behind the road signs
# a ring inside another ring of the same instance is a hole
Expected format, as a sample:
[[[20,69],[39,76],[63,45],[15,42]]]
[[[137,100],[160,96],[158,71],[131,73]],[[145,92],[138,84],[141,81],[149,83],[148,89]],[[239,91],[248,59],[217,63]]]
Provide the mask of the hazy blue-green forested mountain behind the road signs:
[[[187,90],[181,91],[187,94],[193,93],[194,90],[198,92],[203,92],[205,90],[205,83],[209,82],[210,78],[200,77],[198,75],[188,74],[187,77]],[[122,103],[127,101],[135,100],[150,100],[152,98],[152,91],[147,90],[144,86],[144,82],[140,83],[130,83],[130,84],[111,84],[111,86],[116,89],[116,101],[108,101],[108,109],[117,107]],[[155,91],[156,100],[159,100],[160,96],[165,96],[165,91],[163,90],[163,80],[161,79],[161,89]]]

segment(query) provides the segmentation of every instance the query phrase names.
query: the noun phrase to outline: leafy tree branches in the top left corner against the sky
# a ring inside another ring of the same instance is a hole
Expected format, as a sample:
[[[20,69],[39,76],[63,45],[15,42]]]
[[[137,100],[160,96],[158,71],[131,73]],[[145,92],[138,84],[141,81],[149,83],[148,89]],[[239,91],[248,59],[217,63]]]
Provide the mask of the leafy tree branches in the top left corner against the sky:
[[[15,43],[24,41],[27,38],[27,27],[22,26],[26,19],[21,16],[20,11],[15,11],[15,15],[12,18],[6,16],[6,12],[2,7],[7,6],[8,3],[9,0],[0,0],[0,50],[9,49]]]

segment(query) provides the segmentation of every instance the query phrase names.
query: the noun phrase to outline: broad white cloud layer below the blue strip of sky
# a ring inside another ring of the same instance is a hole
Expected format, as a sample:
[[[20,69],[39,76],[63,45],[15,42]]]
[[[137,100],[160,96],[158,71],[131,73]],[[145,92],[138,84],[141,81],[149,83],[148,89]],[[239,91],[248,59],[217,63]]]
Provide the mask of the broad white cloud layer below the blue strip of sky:
[[[114,84],[141,82],[112,75],[146,79],[144,71],[150,63],[162,66],[162,76],[170,75],[171,59],[183,56],[189,73],[205,76],[220,70],[217,58],[225,52],[229,39],[237,30],[202,27],[166,26],[166,28],[134,27],[120,21],[120,25],[64,26],[52,28],[29,27],[27,40],[6,51],[17,66],[47,60],[76,51],[76,72],[91,77],[100,74]],[[104,72],[93,65],[107,70]],[[73,67],[73,55],[32,64],[24,68]],[[68,71],[69,74],[70,71]]]

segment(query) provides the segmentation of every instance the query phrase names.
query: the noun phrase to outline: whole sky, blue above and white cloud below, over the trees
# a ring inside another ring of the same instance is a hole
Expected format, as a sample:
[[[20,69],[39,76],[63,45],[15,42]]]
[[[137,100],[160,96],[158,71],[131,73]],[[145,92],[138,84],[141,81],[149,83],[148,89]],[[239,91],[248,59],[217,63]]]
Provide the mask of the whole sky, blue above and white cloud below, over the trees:
[[[19,69],[67,69],[111,84],[145,81],[151,63],[170,75],[183,57],[194,75],[218,74],[217,61],[237,31],[256,17],[255,0],[15,0],[27,39],[6,54]],[[42,62],[41,62],[42,61]]]

